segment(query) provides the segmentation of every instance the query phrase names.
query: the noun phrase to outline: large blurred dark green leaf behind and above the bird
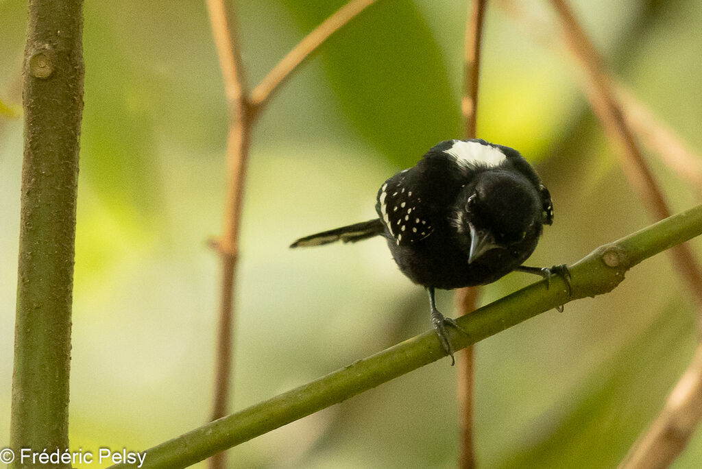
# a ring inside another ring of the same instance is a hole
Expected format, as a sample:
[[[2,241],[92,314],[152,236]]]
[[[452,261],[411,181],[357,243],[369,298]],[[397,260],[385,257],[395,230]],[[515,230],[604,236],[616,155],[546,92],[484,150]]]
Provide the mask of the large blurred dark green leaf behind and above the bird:
[[[310,31],[344,3],[284,0]],[[393,164],[414,164],[437,142],[461,136],[446,57],[411,2],[379,1],[320,52],[342,111]]]

